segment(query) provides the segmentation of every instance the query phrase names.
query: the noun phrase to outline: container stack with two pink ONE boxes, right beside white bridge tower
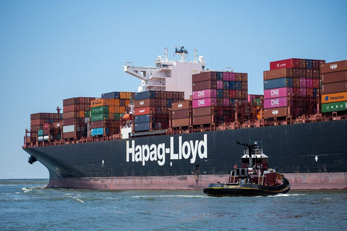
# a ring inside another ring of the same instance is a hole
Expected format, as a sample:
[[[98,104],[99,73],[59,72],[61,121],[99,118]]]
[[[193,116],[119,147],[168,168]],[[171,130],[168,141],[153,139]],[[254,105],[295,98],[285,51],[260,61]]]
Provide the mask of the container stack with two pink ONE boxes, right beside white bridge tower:
[[[211,105],[214,105],[216,124],[232,117],[235,101],[247,102],[248,75],[233,72],[204,72],[192,75],[192,124],[211,123]]]

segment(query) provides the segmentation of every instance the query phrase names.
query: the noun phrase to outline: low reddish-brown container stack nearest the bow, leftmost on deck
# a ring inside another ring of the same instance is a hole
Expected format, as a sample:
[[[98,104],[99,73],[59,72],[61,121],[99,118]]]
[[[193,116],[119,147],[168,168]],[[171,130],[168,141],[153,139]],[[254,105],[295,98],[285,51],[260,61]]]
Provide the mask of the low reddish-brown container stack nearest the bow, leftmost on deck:
[[[36,141],[60,140],[62,113],[34,113],[30,115],[30,139]]]

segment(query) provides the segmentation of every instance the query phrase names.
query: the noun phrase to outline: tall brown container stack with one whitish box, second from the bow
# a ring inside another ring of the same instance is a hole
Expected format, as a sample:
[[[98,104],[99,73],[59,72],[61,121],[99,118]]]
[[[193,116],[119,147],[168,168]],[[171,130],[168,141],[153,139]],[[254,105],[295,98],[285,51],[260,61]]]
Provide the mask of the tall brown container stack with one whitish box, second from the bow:
[[[64,99],[63,138],[80,138],[89,135],[90,102],[95,98],[75,97]]]

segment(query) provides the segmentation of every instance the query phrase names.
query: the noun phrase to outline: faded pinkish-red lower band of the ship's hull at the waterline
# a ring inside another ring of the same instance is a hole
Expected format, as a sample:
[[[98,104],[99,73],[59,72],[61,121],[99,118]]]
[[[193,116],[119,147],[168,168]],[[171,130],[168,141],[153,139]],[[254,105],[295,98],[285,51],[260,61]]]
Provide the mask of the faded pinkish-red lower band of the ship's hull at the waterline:
[[[102,190],[202,190],[229,175],[127,176],[50,179],[47,187]],[[347,190],[347,172],[286,173],[291,190]]]

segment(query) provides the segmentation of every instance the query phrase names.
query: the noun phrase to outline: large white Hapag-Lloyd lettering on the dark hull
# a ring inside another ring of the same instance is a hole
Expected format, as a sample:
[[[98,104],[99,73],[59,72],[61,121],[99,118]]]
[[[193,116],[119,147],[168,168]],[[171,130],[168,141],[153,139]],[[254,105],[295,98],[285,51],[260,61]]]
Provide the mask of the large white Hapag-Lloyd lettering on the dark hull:
[[[146,161],[158,161],[158,165],[163,166],[166,154],[170,154],[170,160],[190,158],[191,164],[195,163],[197,155],[201,159],[207,158],[207,134],[203,135],[203,140],[183,143],[182,136],[179,136],[176,146],[174,137],[171,136],[170,147],[165,147],[165,143],[136,146],[135,140],[132,144],[126,141],[126,162],[131,159],[132,162],[142,162],[142,166],[145,166]]]

